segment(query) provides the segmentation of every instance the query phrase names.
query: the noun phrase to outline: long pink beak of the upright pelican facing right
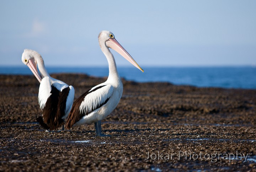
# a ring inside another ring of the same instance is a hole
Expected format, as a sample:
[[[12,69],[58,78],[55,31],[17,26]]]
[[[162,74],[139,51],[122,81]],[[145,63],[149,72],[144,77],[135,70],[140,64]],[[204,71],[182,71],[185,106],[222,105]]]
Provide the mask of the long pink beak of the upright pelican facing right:
[[[116,39],[110,38],[108,41],[106,41],[106,45],[109,48],[112,48],[116,52],[118,52],[121,56],[123,56],[126,60],[128,60],[130,63],[132,63],[135,67],[137,67],[139,70],[144,72],[142,68],[135,62],[135,60],[132,58],[132,56],[129,55],[129,53],[117,42]]]

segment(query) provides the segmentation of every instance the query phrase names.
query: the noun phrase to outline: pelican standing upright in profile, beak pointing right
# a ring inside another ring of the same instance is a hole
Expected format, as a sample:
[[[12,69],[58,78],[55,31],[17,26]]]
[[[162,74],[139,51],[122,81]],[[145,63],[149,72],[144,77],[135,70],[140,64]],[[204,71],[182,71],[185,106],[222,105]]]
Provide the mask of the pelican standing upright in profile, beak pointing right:
[[[109,48],[117,51],[142,72],[144,71],[117,42],[112,32],[101,31],[98,35],[98,41],[108,61],[108,79],[106,82],[87,90],[74,102],[66,121],[66,129],[94,123],[96,136],[105,136],[101,134],[101,120],[116,108],[123,93],[123,84],[117,72],[116,61]]]

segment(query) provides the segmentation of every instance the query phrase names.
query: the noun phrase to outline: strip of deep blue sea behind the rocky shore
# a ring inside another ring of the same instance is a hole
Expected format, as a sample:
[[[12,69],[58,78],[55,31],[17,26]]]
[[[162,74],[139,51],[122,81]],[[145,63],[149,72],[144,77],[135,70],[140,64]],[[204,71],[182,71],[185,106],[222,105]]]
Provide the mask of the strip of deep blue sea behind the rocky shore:
[[[118,67],[119,75],[136,82],[170,82],[176,85],[256,89],[256,67]],[[52,73],[85,73],[108,76],[108,67],[47,67]],[[26,66],[0,66],[0,74],[32,75]]]

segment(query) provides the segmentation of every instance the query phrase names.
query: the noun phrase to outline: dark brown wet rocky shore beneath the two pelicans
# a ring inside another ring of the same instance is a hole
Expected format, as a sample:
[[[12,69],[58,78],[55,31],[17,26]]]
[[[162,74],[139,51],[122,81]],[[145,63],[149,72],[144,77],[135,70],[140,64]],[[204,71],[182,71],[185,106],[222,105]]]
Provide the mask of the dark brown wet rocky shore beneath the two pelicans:
[[[73,85],[75,99],[106,80],[52,77]],[[256,90],[123,85],[102,121],[111,136],[95,137],[93,124],[45,132],[37,79],[0,75],[0,171],[256,171]]]

